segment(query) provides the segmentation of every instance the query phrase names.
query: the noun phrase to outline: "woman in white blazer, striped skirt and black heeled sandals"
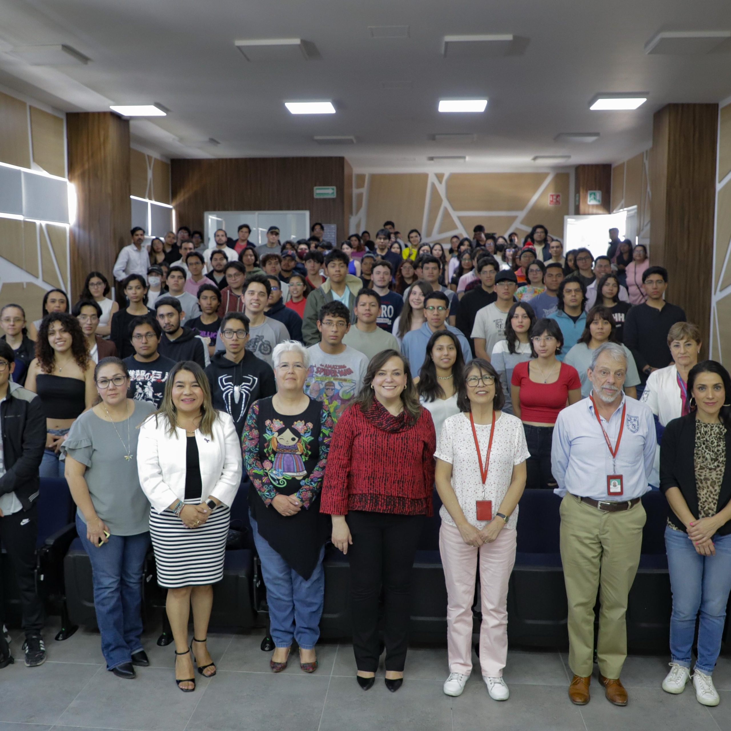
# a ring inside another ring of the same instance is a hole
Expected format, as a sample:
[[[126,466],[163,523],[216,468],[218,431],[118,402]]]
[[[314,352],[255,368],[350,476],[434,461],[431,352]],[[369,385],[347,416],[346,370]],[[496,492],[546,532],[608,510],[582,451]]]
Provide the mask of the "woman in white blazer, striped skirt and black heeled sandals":
[[[230,505],[241,480],[241,447],[233,420],[213,409],[208,379],[197,363],[184,360],[170,371],[159,411],[140,427],[137,471],[151,503],[157,580],[167,588],[175,683],[189,693],[195,690],[194,660],[205,678],[216,675],[205,645],[211,585],[223,577]]]

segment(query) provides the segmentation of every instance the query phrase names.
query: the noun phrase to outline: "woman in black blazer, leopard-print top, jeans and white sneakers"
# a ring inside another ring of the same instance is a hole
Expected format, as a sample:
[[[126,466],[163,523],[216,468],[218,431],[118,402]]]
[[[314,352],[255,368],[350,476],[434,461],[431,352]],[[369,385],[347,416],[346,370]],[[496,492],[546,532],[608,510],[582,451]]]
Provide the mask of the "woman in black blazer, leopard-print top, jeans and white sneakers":
[[[667,425],[660,450],[660,489],[670,504],[665,529],[673,590],[670,673],[662,683],[681,693],[693,669],[696,700],[718,705],[713,669],[721,652],[731,592],[731,377],[715,360],[688,374],[692,411]]]

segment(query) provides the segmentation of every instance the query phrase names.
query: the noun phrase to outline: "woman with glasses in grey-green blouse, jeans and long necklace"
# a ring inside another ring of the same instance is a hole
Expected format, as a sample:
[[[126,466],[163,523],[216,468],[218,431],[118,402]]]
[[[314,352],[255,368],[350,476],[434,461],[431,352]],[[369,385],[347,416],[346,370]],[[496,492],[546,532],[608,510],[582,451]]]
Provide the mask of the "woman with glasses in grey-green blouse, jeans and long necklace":
[[[102,654],[118,678],[150,662],[142,645],[143,565],[150,546],[149,503],[137,476],[137,437],[155,411],[127,398],[129,374],[117,357],[94,369],[99,404],[74,422],[63,451],[76,503],[76,529],[91,562]]]

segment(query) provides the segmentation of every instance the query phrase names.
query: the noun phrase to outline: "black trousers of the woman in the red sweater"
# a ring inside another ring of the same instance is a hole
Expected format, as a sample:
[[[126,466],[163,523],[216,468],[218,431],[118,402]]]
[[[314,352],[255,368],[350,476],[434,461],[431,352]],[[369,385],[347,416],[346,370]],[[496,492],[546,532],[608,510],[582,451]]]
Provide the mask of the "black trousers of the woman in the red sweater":
[[[386,670],[401,672],[409,641],[412,570],[424,517],[352,510],[346,520],[353,539],[348,556],[357,669],[375,673],[378,668],[378,610],[383,588]]]

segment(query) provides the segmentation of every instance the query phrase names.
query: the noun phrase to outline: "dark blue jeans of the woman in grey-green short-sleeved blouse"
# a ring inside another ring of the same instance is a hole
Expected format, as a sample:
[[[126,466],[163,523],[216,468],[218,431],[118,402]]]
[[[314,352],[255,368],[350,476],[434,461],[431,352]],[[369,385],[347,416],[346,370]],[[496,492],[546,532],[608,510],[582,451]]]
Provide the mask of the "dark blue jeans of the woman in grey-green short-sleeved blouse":
[[[86,523],[78,514],[76,530],[91,561],[102,654],[107,670],[113,670],[142,649],[142,577],[150,534],[112,535],[97,548],[86,538]]]

